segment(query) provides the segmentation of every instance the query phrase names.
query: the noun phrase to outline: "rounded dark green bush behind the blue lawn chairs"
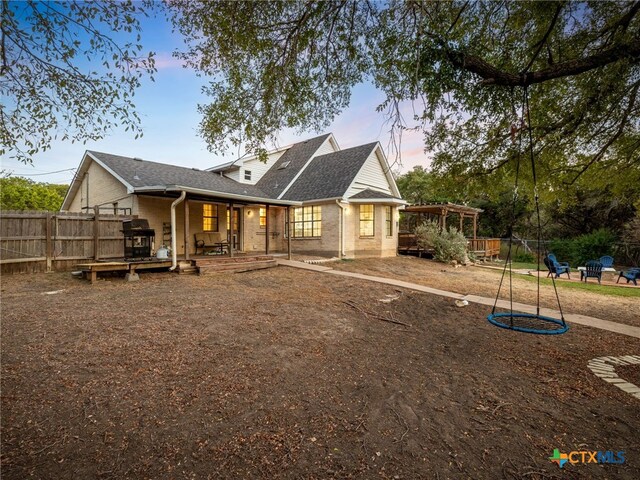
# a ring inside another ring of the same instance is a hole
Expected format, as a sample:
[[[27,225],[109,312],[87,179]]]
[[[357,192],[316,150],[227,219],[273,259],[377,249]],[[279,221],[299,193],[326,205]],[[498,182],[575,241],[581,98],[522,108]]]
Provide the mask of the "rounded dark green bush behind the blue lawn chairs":
[[[555,253],[558,261],[578,267],[603,255],[613,255],[615,242],[616,236],[601,228],[571,240],[552,240],[549,242],[549,251]]]

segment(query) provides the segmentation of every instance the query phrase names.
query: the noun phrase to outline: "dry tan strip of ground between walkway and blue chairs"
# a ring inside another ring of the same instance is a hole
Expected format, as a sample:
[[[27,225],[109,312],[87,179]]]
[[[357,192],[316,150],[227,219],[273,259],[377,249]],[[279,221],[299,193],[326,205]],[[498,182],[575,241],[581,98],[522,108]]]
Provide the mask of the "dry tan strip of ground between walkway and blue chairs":
[[[327,264],[337,270],[346,270],[368,275],[395,278],[450,292],[481,295],[495,298],[502,275],[501,269],[478,266],[450,265],[418,257],[400,256],[383,259],[363,259]],[[579,274],[578,275],[579,278]],[[513,275],[513,300],[535,305],[537,285],[532,279],[523,279]],[[529,281],[527,281],[529,280]],[[637,297],[613,297],[583,290],[562,288],[565,279],[556,279],[560,304],[565,313],[579,313],[592,317],[625,323],[640,327],[640,288]],[[595,286],[595,282],[594,282]],[[625,287],[619,287],[625,288]],[[637,287],[629,287],[637,288]],[[500,292],[500,298],[509,298],[508,278]],[[553,286],[541,285],[540,304],[543,307],[558,309]]]

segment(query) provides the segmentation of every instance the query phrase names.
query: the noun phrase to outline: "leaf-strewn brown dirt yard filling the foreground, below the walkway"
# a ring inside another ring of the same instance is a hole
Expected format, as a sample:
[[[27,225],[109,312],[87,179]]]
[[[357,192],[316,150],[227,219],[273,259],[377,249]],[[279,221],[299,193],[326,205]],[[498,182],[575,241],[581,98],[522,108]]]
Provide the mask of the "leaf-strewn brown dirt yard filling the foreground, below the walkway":
[[[587,369],[637,339],[286,267],[140,278],[2,278],[3,479],[640,478],[640,402]]]

